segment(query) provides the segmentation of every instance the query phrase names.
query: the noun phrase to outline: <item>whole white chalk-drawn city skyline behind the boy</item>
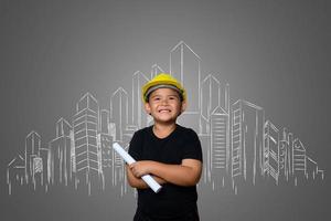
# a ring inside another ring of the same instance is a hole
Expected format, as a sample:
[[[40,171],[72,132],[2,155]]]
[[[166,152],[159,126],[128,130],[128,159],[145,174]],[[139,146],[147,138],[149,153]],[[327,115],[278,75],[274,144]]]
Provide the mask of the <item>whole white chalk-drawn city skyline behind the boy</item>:
[[[232,103],[228,84],[212,74],[202,78],[201,62],[183,41],[170,50],[169,73],[186,88],[189,101],[178,123],[193,128],[203,148],[201,188],[218,191],[229,186],[237,194],[243,185],[270,179],[277,186],[324,179],[300,138],[266,119],[263,107],[244,99]],[[143,110],[141,86],[163,72],[158,64],[151,66],[150,76],[135,72],[131,94],[119,86],[108,97],[109,109],[100,109],[87,92],[70,120],[56,122],[55,137],[47,145],[38,131],[28,134],[22,152],[8,164],[9,194],[23,186],[45,192],[56,186],[88,194],[109,189],[120,196],[129,192],[125,162],[111,146],[116,141],[127,149],[134,133],[152,124]]]

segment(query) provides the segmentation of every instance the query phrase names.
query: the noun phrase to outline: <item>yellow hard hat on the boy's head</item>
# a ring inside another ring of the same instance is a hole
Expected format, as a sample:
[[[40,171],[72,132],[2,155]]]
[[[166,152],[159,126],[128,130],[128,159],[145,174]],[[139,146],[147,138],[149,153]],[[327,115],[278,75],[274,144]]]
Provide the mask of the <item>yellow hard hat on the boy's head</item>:
[[[143,102],[148,102],[149,95],[153,91],[164,87],[175,90],[181,95],[182,101],[186,101],[185,88],[177,81],[177,78],[172,77],[170,74],[161,73],[142,86]]]

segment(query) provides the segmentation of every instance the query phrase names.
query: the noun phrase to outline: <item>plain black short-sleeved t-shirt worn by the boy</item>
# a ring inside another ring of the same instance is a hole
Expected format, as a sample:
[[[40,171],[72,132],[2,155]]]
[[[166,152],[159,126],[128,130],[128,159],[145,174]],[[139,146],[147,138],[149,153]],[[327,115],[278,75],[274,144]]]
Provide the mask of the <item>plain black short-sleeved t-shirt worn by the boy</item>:
[[[183,159],[202,161],[202,149],[199,137],[193,129],[177,125],[166,138],[158,138],[152,126],[135,133],[129,154],[137,160],[154,160],[170,165],[181,165]],[[180,187],[172,183],[162,185],[160,192],[150,188],[138,189],[138,208],[153,219],[169,220],[196,210],[196,187]]]

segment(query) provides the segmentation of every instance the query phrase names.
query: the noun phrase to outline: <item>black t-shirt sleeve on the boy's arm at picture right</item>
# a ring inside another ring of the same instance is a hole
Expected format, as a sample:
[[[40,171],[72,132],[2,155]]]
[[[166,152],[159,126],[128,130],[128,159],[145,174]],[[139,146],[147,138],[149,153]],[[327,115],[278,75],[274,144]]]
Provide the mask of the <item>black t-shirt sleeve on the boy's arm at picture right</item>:
[[[193,129],[189,129],[185,136],[183,159],[197,159],[202,161],[201,143]]]

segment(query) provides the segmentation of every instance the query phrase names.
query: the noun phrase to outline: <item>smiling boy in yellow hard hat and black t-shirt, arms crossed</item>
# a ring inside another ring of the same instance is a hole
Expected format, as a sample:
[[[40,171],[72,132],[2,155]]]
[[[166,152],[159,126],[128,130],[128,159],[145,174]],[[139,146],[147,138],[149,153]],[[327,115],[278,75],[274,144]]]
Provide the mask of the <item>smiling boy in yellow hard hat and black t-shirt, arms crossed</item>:
[[[146,112],[154,124],[135,133],[129,154],[137,162],[127,166],[128,182],[138,190],[134,221],[199,220],[196,183],[202,171],[197,135],[178,125],[186,94],[169,74],[160,74],[142,87]],[[154,193],[141,176],[151,175],[162,186]]]

